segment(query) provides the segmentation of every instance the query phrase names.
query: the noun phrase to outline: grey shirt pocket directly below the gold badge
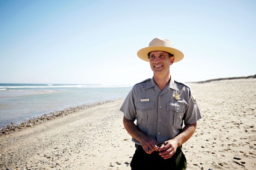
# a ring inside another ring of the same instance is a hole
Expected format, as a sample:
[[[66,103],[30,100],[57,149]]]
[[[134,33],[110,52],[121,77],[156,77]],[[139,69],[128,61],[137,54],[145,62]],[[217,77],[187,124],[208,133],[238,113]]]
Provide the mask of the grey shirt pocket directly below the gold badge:
[[[185,104],[168,102],[166,108],[167,124],[174,127],[182,127],[182,118],[185,113],[185,107]]]

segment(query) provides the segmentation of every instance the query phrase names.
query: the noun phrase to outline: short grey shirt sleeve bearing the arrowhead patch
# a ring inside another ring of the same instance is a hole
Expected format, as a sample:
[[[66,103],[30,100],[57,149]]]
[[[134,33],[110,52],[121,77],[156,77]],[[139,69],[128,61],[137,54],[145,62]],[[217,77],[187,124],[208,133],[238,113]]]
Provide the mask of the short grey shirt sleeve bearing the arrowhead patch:
[[[198,102],[194,98],[193,92],[190,90],[190,97],[188,106],[186,107],[185,116],[183,117],[184,124],[193,124],[197,120],[202,118],[201,111],[198,106]],[[193,95],[193,98],[192,98]]]

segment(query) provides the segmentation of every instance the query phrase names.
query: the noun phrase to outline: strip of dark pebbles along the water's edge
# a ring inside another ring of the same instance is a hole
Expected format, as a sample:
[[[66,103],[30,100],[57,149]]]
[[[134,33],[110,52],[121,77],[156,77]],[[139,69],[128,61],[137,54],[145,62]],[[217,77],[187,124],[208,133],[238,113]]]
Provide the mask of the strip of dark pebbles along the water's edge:
[[[116,99],[119,100],[119,99]],[[97,105],[101,105],[104,103],[108,103],[108,102],[113,102],[116,100],[107,100],[104,102],[96,102],[96,103],[91,103],[91,104],[83,104],[80,106],[75,106],[75,107],[69,107],[69,108],[64,108],[62,110],[58,110],[55,112],[50,112],[50,113],[46,113],[43,114],[41,116],[38,117],[34,117],[34,118],[30,118],[27,120],[22,121],[20,124],[16,125],[15,123],[11,122],[9,125],[3,126],[0,128],[0,136],[2,135],[6,135],[6,134],[10,134],[14,131],[17,131],[18,129],[24,129],[24,128],[28,128],[28,127],[32,127],[33,125],[37,125],[37,124],[41,124],[53,119],[57,119],[59,117],[64,117],[65,115],[69,115],[78,111],[82,111],[84,109],[87,108],[91,108]]]

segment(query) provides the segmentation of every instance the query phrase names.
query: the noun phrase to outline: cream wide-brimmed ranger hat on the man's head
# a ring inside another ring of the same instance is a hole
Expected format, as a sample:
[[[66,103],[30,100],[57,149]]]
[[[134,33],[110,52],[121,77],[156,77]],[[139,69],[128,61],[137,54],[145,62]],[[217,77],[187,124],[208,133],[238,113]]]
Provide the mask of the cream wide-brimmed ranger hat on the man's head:
[[[149,43],[148,47],[140,49],[137,52],[137,55],[140,59],[149,62],[148,54],[151,51],[165,51],[174,55],[174,62],[181,61],[184,57],[184,54],[181,51],[172,48],[172,46],[173,45],[170,40],[166,40],[163,38],[155,38]]]

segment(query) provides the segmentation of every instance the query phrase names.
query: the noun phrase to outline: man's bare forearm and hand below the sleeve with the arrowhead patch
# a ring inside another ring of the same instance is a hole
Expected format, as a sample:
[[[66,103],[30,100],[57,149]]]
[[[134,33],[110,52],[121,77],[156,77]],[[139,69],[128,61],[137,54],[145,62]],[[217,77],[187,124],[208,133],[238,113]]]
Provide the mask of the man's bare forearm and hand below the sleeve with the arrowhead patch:
[[[164,159],[171,158],[176,152],[177,147],[185,143],[196,131],[197,123],[187,124],[182,129],[181,133],[175,138],[168,140],[158,149],[159,155]]]

